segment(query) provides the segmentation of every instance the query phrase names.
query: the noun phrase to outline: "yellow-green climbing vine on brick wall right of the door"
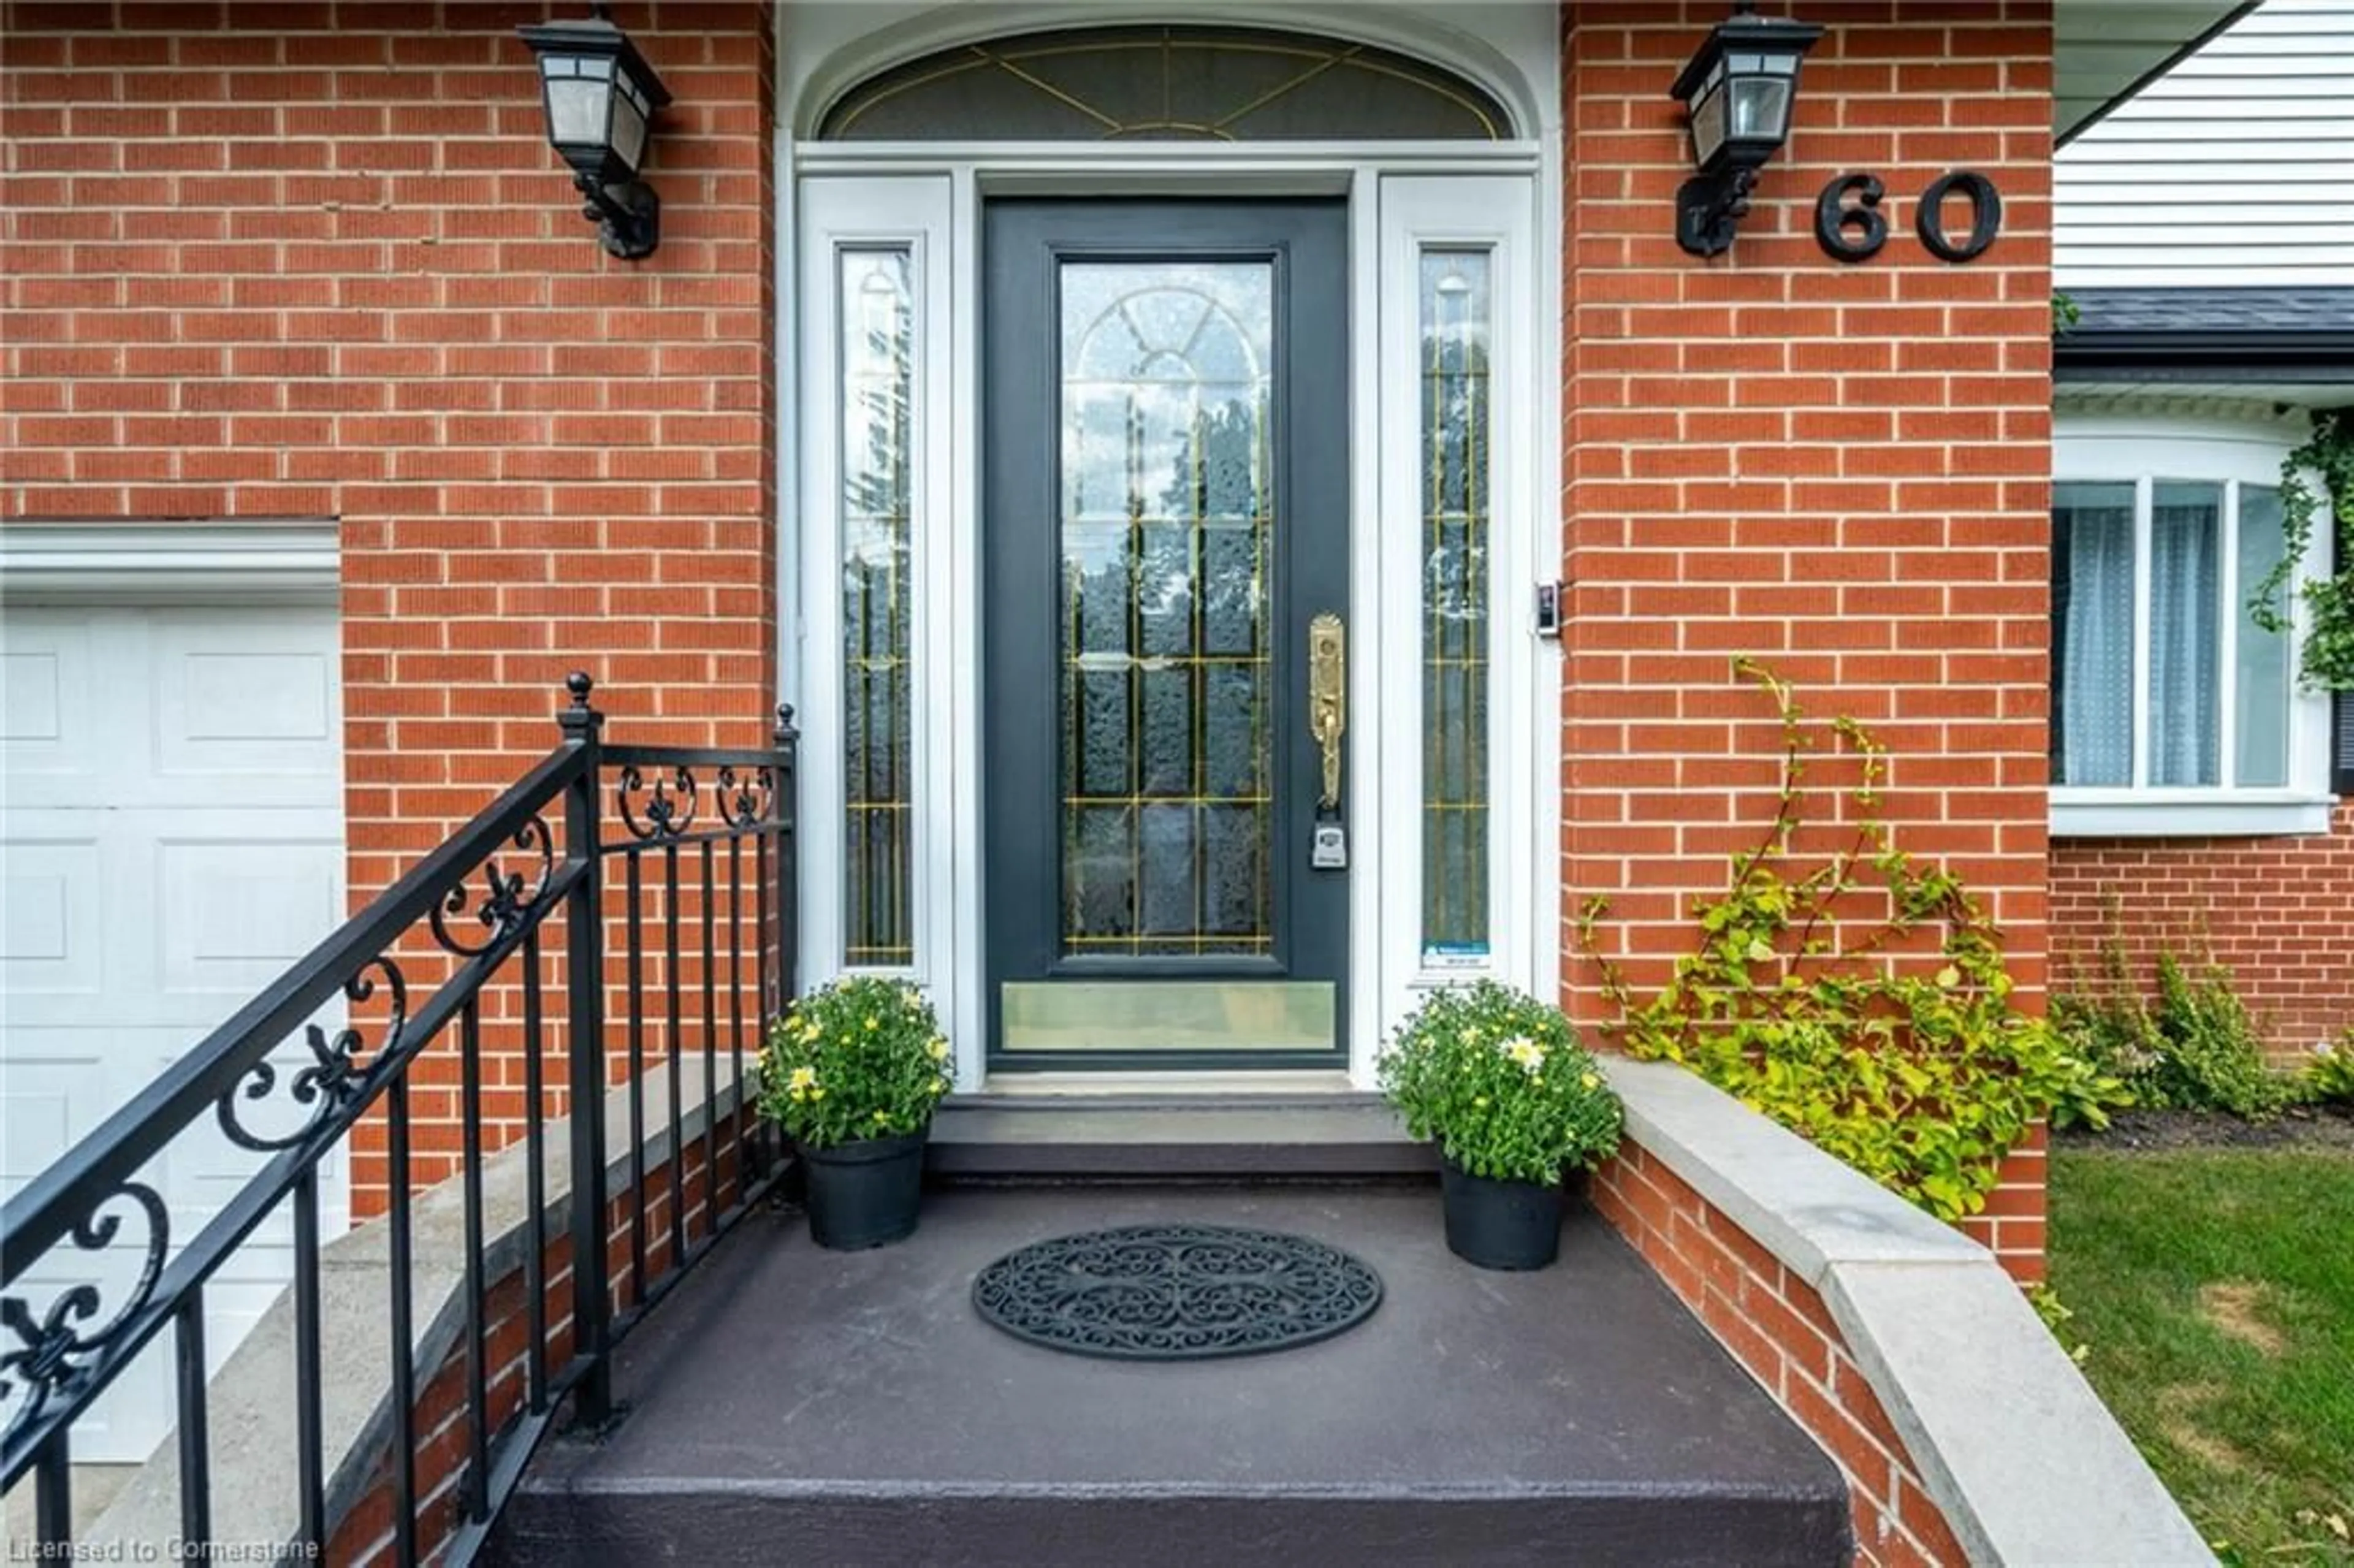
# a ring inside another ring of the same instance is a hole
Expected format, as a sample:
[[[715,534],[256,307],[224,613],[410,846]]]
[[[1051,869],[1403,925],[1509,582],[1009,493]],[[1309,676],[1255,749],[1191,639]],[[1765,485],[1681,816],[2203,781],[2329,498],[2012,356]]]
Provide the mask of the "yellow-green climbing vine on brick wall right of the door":
[[[1580,944],[1617,1005],[1608,1034],[1634,1057],[1683,1062],[1942,1220],[1973,1215],[2055,1104],[2100,1114],[2107,1095],[2013,1003],[2003,937],[1961,878],[1895,848],[1881,742],[1853,718],[1808,725],[1789,683],[1751,659],[1733,673],[1782,718],[1775,817],[1733,857],[1733,885],[1695,904],[1700,946],[1648,1001],[1601,951],[1608,902],[1587,902]],[[1803,784],[1824,730],[1855,760],[1850,789]],[[1808,822],[1838,793],[1843,819]],[[1801,829],[1813,841],[1822,826],[1843,845],[1794,850]]]

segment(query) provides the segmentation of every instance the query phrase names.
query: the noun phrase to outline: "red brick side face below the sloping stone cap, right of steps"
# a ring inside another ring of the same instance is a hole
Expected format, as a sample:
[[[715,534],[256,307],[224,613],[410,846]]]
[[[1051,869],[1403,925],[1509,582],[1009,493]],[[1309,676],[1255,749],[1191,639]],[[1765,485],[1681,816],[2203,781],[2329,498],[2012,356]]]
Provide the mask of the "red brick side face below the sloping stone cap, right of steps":
[[[1813,1285],[1631,1142],[1594,1205],[1846,1474],[1857,1561],[1968,1561]]]

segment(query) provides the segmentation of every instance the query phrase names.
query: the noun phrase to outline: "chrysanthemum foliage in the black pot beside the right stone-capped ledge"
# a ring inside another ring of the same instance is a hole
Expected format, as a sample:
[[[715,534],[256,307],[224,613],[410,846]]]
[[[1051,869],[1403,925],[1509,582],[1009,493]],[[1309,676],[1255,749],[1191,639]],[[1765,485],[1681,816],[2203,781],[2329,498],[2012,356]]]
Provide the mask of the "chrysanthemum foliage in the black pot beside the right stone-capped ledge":
[[[1558,1187],[1617,1154],[1620,1099],[1558,1008],[1492,979],[1434,991],[1382,1055],[1408,1132],[1462,1172]]]

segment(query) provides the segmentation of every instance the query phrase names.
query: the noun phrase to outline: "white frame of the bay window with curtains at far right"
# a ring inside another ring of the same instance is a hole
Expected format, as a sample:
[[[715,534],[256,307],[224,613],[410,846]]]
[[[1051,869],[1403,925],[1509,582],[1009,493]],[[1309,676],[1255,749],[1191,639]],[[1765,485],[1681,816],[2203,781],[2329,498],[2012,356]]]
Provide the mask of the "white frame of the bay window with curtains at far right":
[[[2163,410],[2067,412],[2053,426],[2053,483],[2130,483],[2135,527],[2135,607],[2133,607],[2133,777],[2147,777],[2149,758],[2149,513],[2161,483],[2220,485],[2225,539],[2220,544],[2222,657],[2217,680],[2220,760],[2236,760],[2239,626],[2248,584],[2239,582],[2239,492],[2241,485],[2276,487],[2281,459],[2302,438],[2302,421],[2246,414],[2182,414]],[[2295,574],[2326,574],[2330,539],[2314,530]],[[2305,640],[2302,600],[2290,600],[2290,711],[2288,711],[2288,784],[2276,789],[2243,786],[2067,786],[2050,789],[2050,831],[2055,838],[2201,838],[2201,836],[2286,836],[2326,833],[2330,808],[2330,699],[2298,685],[2295,650]],[[2057,713],[2053,716],[2057,723]]]

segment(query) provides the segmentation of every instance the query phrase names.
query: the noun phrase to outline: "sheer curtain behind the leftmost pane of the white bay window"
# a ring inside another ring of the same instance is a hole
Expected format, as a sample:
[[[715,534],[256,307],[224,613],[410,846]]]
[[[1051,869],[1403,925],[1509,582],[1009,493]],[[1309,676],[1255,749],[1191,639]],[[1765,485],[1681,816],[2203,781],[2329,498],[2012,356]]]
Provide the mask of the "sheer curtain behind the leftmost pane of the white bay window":
[[[2053,784],[2133,784],[2133,487],[2062,485],[2057,501]]]

